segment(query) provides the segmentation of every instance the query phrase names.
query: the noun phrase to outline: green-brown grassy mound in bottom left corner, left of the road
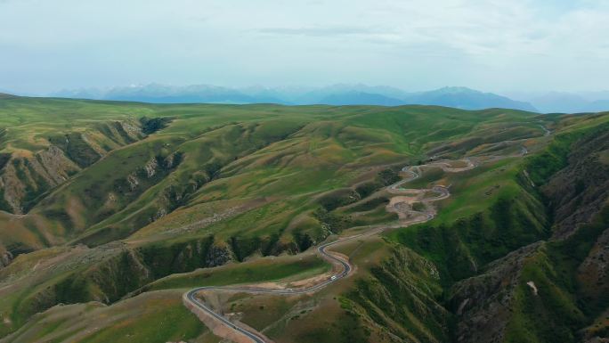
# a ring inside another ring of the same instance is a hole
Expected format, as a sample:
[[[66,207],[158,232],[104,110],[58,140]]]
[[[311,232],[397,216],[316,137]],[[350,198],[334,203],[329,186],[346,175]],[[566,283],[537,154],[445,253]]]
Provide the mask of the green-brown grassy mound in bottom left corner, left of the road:
[[[151,324],[154,323],[154,324]],[[215,338],[183,306],[181,291],[150,292],[115,306],[55,306],[38,314],[6,342],[166,342]]]

